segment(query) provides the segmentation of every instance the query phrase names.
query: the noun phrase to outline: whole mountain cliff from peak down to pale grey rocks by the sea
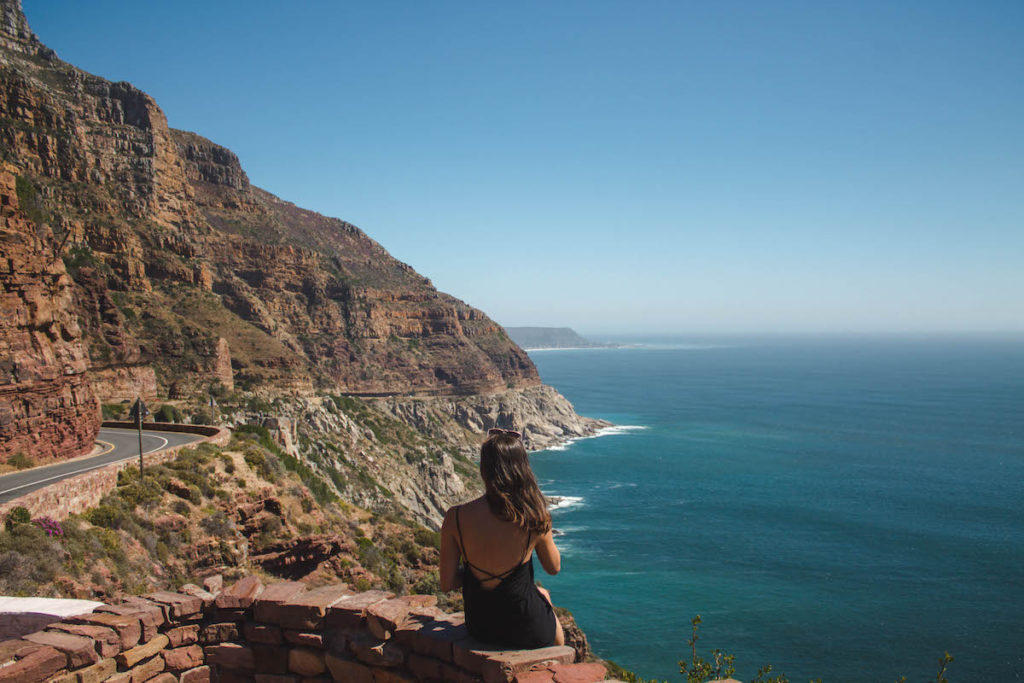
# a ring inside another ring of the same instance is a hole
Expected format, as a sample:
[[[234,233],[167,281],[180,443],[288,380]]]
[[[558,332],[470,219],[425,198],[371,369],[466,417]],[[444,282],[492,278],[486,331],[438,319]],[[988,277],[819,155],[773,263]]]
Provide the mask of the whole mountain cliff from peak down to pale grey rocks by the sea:
[[[481,430],[521,420],[541,447],[601,426],[543,387],[483,312],[354,225],[251,185],[229,150],[169,128],[132,85],[58,59],[17,0],[0,8],[0,154],[29,222],[53,236],[50,267],[67,271],[84,347],[75,373],[87,351],[104,403],[169,399],[229,425],[281,418],[290,427],[273,433],[309,476],[428,525],[475,490],[466,456]],[[4,390],[12,405],[43,400]]]

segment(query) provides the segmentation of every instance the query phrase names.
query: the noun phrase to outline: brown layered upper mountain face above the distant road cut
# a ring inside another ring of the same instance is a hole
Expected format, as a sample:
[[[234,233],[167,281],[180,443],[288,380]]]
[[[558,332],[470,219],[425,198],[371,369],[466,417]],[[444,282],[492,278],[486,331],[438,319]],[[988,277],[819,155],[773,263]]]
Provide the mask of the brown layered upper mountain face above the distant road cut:
[[[16,0],[0,7],[0,141],[41,217],[70,236],[97,377],[118,385],[117,369],[152,367],[158,390],[182,395],[213,382],[360,395],[540,383],[482,312],[355,226],[251,186],[230,151],[57,59]]]

